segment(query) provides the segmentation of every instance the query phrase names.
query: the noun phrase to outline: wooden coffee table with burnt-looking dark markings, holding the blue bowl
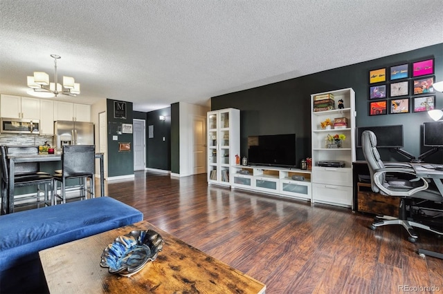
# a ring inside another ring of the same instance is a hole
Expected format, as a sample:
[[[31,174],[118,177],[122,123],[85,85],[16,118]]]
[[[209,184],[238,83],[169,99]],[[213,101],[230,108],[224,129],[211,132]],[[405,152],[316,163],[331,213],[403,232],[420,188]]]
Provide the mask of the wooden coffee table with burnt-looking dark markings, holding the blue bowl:
[[[163,237],[163,251],[138,273],[123,277],[100,267],[100,255],[119,235],[154,230]],[[186,244],[149,222],[39,252],[51,293],[264,293],[266,286],[214,257]]]

